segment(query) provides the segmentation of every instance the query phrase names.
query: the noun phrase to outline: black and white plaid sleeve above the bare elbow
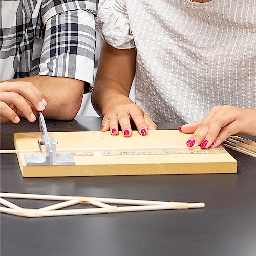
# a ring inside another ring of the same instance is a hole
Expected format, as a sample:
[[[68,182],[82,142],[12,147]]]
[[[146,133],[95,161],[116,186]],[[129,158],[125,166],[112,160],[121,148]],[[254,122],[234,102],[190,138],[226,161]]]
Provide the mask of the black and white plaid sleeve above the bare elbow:
[[[46,32],[39,75],[82,80],[92,91],[97,1],[42,1]]]

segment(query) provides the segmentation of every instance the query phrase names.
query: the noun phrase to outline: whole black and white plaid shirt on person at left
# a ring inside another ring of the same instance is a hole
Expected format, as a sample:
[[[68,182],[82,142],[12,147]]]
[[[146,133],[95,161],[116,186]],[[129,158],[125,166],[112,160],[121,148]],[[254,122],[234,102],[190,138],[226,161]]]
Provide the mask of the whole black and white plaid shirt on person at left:
[[[98,0],[0,0],[0,81],[33,75],[92,90]]]

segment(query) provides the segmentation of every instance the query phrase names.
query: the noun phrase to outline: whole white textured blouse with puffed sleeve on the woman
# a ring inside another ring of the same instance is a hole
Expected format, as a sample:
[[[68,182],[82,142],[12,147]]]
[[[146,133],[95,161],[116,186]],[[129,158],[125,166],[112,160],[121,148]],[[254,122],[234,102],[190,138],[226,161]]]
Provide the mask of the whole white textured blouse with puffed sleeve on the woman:
[[[256,108],[256,1],[100,0],[97,28],[135,48],[135,102],[155,121]]]

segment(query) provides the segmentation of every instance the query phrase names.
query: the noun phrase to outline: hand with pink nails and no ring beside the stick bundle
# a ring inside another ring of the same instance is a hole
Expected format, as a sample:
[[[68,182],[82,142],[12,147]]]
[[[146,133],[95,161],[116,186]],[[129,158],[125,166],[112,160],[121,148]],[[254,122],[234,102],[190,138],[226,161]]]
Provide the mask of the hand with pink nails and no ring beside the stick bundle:
[[[214,106],[204,120],[185,124],[179,130],[193,133],[186,142],[188,147],[217,147],[231,135],[256,135],[256,109]]]

